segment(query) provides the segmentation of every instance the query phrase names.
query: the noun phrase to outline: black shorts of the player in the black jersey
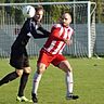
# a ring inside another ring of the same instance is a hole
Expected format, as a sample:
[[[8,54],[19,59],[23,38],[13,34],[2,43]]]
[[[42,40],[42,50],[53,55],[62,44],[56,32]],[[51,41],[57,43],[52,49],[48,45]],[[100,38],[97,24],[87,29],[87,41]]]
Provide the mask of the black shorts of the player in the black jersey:
[[[29,67],[29,61],[26,50],[24,51],[12,50],[10,57],[10,65],[16,69],[24,69],[24,67]]]

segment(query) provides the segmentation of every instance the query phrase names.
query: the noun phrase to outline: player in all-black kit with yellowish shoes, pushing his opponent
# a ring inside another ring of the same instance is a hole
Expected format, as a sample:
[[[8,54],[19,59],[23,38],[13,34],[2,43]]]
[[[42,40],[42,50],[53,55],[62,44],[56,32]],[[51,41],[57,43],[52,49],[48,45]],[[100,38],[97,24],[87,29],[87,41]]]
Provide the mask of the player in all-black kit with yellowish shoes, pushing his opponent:
[[[42,6],[37,6],[35,16],[32,18],[27,18],[27,21],[24,23],[16,40],[11,48],[10,64],[15,68],[15,70],[8,74],[0,80],[0,86],[2,86],[21,77],[18,93],[16,98],[16,100],[20,102],[29,102],[29,100],[24,96],[24,90],[28,80],[28,76],[31,72],[26,51],[26,44],[28,43],[31,36],[37,39],[47,38],[50,35],[49,31],[41,27],[40,22],[43,16],[43,11],[44,10]],[[41,32],[38,34],[38,30]]]

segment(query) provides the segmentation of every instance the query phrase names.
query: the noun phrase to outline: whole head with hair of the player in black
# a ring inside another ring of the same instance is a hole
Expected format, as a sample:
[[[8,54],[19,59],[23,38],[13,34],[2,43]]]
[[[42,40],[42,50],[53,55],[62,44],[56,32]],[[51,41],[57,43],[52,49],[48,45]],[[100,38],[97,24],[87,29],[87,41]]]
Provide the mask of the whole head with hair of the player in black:
[[[38,5],[35,10],[36,10],[35,20],[37,22],[40,22],[42,20],[44,10],[41,5]]]

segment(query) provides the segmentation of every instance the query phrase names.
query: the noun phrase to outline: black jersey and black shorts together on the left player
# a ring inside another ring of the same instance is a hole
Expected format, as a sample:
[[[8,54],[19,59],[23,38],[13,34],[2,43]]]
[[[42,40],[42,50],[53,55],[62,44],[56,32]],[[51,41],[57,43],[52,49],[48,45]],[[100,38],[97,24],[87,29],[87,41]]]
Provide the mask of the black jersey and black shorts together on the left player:
[[[37,31],[41,31],[38,34]],[[26,44],[28,43],[29,38],[32,36],[37,38],[49,37],[50,32],[43,29],[40,23],[34,21],[34,18],[27,18],[24,23],[16,40],[11,48],[10,64],[17,68],[23,69],[23,67],[29,66],[28,54],[26,51]]]

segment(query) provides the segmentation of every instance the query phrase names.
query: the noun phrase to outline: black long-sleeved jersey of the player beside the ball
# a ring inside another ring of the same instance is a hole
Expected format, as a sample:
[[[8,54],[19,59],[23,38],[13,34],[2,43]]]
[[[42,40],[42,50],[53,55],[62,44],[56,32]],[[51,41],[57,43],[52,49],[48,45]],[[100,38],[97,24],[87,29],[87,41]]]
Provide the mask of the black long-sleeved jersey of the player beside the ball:
[[[37,32],[37,30],[40,30],[41,34]],[[35,39],[37,38],[46,38],[49,37],[50,32],[43,29],[40,25],[40,23],[35,22],[34,18],[27,18],[27,21],[24,23],[16,40],[14,41],[12,48],[13,49],[20,49],[23,47],[26,47],[29,38],[32,36]]]

